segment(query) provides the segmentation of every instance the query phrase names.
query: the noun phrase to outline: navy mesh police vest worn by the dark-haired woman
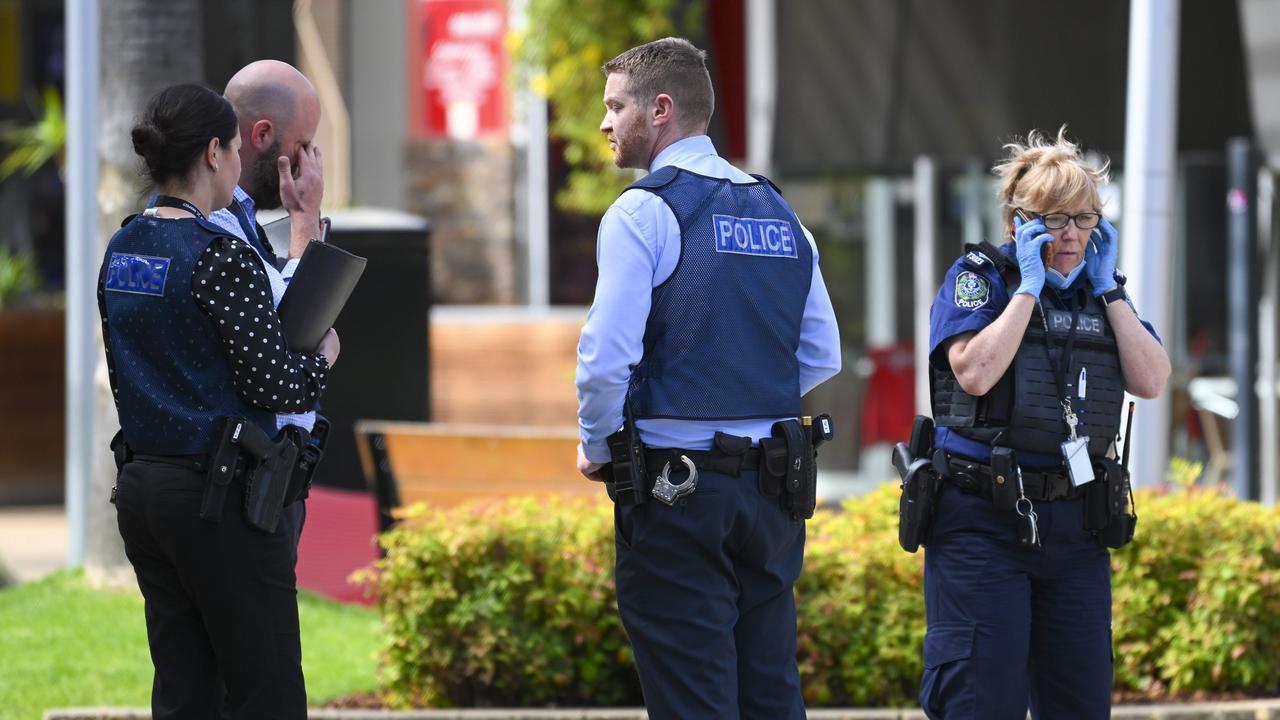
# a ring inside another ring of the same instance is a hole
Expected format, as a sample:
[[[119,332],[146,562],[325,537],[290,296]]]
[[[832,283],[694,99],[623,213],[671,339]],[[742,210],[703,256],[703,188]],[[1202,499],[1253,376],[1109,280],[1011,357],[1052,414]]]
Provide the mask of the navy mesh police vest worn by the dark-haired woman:
[[[236,391],[224,341],[191,293],[196,260],[223,236],[207,220],[136,215],[108,243],[99,274],[104,332],[120,428],[134,452],[210,452],[223,416],[275,436],[275,414]]]

